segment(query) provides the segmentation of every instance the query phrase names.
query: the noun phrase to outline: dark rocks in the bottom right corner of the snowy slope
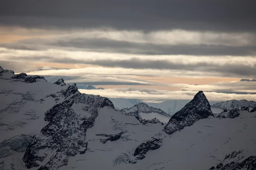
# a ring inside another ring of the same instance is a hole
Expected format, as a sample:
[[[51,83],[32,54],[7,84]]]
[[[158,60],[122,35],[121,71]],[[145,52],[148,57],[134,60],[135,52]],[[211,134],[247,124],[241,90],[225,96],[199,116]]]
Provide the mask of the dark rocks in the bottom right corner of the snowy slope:
[[[230,162],[223,166],[218,164],[213,170],[256,170],[256,156],[250,156],[242,162]]]

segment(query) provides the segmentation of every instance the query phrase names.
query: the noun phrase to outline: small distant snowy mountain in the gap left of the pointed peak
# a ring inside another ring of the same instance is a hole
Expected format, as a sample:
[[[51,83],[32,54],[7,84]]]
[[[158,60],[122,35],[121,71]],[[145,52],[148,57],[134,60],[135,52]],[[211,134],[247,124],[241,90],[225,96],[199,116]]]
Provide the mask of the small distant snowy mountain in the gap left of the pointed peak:
[[[170,115],[162,111],[161,109],[149,107],[145,103],[139,103],[131,108],[124,108],[120,110],[127,116],[136,116],[140,121],[158,119],[160,122],[167,123],[170,119]]]

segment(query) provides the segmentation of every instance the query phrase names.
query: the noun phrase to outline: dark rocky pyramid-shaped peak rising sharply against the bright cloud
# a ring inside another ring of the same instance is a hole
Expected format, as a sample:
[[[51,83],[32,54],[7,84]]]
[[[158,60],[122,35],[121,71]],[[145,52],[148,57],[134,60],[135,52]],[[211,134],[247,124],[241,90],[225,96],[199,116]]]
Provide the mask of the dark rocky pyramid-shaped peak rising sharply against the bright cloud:
[[[199,91],[194,96],[194,99],[171,117],[163,131],[170,135],[178,130],[182,130],[186,126],[193,125],[200,119],[206,119],[209,116],[213,116],[211,106],[203,91]]]

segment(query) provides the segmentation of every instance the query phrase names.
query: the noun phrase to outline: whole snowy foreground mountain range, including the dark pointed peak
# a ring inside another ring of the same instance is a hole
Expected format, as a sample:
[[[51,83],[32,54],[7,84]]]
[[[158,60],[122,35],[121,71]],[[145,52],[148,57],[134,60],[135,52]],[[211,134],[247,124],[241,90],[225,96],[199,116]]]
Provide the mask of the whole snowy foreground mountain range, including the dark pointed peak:
[[[256,112],[236,109],[215,118],[201,91],[163,126],[122,114],[108,98],[81,94],[76,84],[14,76],[0,68],[0,169],[256,167]]]

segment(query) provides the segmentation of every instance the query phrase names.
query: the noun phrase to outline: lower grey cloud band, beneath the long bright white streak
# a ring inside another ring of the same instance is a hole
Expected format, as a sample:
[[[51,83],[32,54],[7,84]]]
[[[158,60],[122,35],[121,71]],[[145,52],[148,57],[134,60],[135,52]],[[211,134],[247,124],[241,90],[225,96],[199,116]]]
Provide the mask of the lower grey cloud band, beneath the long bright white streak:
[[[56,62],[68,64],[90,64],[105,67],[133,68],[133,69],[157,69],[157,70],[180,70],[180,71],[201,71],[208,73],[219,73],[226,77],[256,77],[256,65],[249,66],[247,63],[225,63],[214,64],[207,61],[201,61],[195,64],[175,63],[167,59],[148,60],[148,59],[97,59],[83,60],[72,58],[56,57],[9,57],[13,60],[28,60],[37,62]]]

